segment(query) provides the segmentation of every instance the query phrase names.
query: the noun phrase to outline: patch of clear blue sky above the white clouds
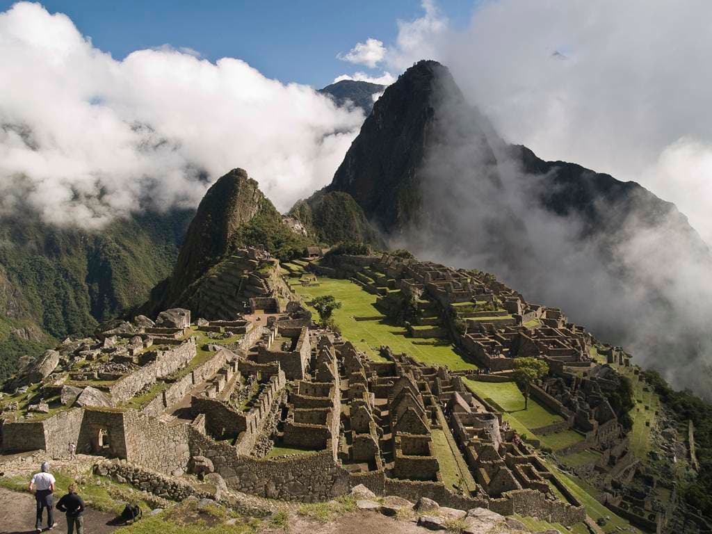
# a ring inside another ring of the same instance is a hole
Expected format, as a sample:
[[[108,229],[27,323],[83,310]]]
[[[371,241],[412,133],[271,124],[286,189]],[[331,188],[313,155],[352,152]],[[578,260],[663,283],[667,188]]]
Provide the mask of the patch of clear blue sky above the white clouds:
[[[388,44],[397,19],[423,11],[419,0],[45,0],[48,11],[68,14],[94,46],[122,59],[141,48],[189,47],[211,61],[241,58],[269,78],[322,87],[343,73],[369,69],[340,61],[359,41]],[[0,0],[5,11],[14,1]],[[464,26],[473,6],[441,0],[454,26]],[[378,71],[373,70],[373,73]]]

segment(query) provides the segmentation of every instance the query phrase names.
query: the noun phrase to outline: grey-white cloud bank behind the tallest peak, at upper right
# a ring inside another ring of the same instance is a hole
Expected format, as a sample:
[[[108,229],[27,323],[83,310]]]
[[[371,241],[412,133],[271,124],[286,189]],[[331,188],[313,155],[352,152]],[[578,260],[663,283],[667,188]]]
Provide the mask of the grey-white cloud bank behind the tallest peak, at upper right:
[[[444,63],[506,140],[639,182],[712,244],[712,4],[486,0],[464,29],[423,9],[380,68]]]

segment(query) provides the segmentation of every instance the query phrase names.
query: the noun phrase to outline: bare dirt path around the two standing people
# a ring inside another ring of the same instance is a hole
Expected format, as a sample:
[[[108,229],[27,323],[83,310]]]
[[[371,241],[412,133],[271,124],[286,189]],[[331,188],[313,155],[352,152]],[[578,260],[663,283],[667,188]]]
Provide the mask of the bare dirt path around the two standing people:
[[[46,521],[47,515],[44,515]],[[118,528],[108,525],[114,519],[109,513],[87,508],[84,516],[84,531],[91,534],[108,534]],[[66,533],[67,522],[63,513],[55,510],[59,525],[52,533]],[[0,534],[36,534],[35,498],[30,493],[19,493],[0,488]]]

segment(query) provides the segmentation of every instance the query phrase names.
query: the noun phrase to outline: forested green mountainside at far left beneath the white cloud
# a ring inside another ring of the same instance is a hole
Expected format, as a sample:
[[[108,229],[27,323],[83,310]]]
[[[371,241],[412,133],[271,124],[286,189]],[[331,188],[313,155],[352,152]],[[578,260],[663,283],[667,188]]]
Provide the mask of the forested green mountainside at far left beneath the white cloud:
[[[192,211],[145,212],[97,231],[37,216],[0,222],[0,374],[36,353],[142,303],[177,257]]]

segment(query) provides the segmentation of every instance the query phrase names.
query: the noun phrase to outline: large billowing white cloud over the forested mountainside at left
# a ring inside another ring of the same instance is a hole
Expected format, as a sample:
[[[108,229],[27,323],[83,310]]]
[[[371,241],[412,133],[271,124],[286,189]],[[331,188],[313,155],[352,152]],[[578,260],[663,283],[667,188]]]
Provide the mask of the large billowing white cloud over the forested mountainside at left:
[[[265,78],[244,61],[169,47],[115,61],[63,14],[0,14],[0,213],[99,226],[140,209],[194,206],[244,167],[280,209],[327,184],[358,110]]]

